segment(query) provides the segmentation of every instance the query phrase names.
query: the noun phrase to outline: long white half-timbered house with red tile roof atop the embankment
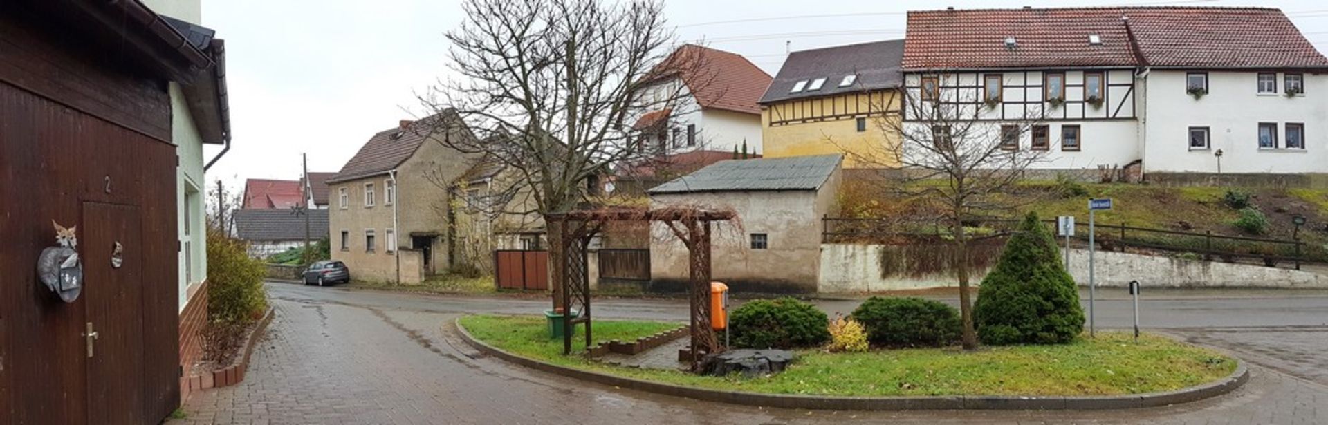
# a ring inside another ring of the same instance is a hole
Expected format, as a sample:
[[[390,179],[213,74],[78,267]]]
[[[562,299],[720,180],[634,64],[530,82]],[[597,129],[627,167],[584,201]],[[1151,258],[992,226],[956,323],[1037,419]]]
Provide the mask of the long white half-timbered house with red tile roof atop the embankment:
[[[908,101],[1020,129],[1038,170],[1328,173],[1328,60],[1278,9],[910,12],[903,68]]]

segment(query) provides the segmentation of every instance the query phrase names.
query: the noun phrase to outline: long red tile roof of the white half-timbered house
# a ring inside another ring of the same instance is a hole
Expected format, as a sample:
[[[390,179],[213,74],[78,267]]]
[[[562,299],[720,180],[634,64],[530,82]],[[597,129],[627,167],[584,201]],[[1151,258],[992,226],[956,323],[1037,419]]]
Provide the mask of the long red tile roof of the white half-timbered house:
[[[1102,44],[1089,45],[1089,35],[1101,36]],[[1015,48],[1005,46],[1007,37],[1015,37]],[[906,40],[906,70],[1135,65],[1328,66],[1328,60],[1291,20],[1272,8],[908,12]]]

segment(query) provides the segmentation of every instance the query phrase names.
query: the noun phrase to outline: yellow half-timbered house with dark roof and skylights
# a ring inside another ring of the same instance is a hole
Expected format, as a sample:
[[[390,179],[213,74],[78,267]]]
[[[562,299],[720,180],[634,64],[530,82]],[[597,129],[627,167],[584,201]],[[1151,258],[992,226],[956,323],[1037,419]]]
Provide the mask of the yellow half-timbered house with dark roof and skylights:
[[[892,167],[904,41],[789,53],[761,97],[766,158],[845,154],[845,167]]]

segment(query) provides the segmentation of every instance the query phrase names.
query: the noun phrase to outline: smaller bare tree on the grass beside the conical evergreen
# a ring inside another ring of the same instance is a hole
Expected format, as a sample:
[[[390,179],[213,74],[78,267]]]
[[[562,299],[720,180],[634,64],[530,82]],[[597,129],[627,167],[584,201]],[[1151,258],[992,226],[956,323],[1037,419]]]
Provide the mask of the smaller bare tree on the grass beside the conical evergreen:
[[[963,345],[975,349],[969,244],[976,235],[967,226],[1008,215],[1017,207],[1019,199],[1008,194],[1029,167],[1045,158],[1046,150],[1031,146],[1049,142],[1045,128],[1038,125],[1044,106],[1003,104],[976,89],[956,88],[952,73],[912,78],[912,88],[899,94],[899,113],[876,120],[886,139],[896,143],[882,146],[883,154],[855,159],[890,167],[884,173],[894,181],[892,190],[923,202],[948,231],[955,250]],[[879,110],[891,110],[887,106],[892,105],[880,105]],[[880,163],[880,158],[890,163]]]

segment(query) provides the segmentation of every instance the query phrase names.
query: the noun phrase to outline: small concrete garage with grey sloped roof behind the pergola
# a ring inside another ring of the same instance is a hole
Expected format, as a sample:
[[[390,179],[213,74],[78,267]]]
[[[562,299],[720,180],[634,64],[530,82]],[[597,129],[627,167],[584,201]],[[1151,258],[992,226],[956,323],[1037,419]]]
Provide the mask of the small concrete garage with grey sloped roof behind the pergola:
[[[712,230],[714,280],[734,292],[817,292],[821,218],[837,214],[843,155],[729,159],[647,191],[651,207],[733,210]],[[684,291],[687,248],[651,224],[651,291]]]

